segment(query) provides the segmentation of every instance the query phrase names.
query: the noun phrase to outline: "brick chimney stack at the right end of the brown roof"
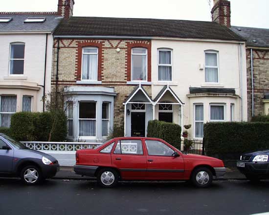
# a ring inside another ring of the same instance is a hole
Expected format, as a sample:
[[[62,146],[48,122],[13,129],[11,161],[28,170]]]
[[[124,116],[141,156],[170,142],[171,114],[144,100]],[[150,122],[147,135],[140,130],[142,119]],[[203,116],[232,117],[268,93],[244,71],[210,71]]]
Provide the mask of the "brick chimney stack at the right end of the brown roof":
[[[218,22],[228,28],[231,27],[231,4],[228,0],[213,0],[214,6],[211,10],[212,21]]]

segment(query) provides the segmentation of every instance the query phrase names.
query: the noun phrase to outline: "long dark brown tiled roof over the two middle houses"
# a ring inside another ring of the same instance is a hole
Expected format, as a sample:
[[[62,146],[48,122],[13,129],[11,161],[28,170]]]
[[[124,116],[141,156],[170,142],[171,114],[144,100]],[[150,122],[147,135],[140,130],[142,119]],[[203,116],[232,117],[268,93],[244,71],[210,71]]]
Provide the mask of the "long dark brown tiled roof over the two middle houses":
[[[55,35],[176,37],[245,41],[217,22],[105,17],[71,17],[57,27]]]

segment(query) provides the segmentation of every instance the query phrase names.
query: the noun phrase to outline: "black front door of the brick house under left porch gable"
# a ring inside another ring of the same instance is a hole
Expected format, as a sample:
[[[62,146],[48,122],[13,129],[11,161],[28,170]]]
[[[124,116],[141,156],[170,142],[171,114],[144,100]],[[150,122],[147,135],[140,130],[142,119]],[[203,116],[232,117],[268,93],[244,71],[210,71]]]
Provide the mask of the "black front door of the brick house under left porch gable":
[[[131,113],[131,135],[132,137],[145,136],[145,113],[132,112]]]

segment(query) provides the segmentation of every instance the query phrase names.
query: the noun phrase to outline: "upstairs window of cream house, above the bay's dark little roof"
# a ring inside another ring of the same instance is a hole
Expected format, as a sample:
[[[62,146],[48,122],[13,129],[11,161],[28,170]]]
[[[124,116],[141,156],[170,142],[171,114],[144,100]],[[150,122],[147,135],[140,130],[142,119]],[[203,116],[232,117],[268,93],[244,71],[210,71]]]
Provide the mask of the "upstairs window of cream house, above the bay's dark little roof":
[[[218,53],[214,51],[205,52],[205,82],[219,82]]]

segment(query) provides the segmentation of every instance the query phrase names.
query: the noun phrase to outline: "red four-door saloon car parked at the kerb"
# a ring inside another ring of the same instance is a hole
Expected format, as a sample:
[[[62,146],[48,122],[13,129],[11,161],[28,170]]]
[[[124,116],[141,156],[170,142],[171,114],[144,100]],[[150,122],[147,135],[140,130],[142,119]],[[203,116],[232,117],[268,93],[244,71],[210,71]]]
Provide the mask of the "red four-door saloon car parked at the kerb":
[[[182,153],[161,139],[119,137],[77,151],[74,171],[97,177],[102,187],[114,187],[119,180],[191,180],[208,187],[213,177],[224,177],[225,167],[222,160]]]

